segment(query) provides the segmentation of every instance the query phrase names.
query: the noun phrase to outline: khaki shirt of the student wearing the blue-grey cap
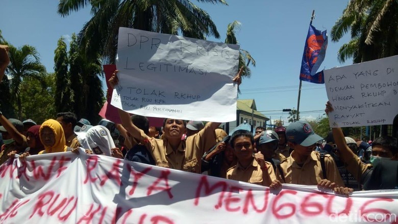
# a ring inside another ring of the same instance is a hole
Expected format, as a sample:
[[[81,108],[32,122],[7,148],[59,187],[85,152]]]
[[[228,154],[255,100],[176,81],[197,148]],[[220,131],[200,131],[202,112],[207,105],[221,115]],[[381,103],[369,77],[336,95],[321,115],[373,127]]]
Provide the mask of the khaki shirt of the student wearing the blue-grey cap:
[[[325,179],[322,174],[319,153],[315,151],[311,152],[303,166],[300,166],[294,161],[293,155],[294,151],[288,158],[281,161],[281,170],[283,174],[277,169],[277,178],[279,181],[284,183],[282,175],[284,175],[286,183],[289,184],[317,185],[320,180]],[[325,155],[325,167],[327,179],[335,182],[340,187],[344,187],[336,163],[329,154]]]

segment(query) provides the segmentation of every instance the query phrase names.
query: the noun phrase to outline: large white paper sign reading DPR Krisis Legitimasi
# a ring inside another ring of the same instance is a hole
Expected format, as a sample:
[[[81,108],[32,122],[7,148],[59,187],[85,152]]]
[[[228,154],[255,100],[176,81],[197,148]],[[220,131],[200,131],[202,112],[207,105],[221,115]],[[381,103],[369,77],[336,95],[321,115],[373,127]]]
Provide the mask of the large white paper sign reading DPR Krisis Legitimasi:
[[[239,46],[120,27],[111,104],[148,117],[236,120]]]

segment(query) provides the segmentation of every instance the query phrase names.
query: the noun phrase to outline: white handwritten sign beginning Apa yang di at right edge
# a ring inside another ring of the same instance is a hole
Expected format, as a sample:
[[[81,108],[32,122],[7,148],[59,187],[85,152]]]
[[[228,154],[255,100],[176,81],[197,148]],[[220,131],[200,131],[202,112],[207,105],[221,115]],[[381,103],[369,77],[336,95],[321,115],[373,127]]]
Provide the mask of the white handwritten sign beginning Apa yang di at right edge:
[[[392,124],[398,115],[398,56],[325,70],[331,127]]]

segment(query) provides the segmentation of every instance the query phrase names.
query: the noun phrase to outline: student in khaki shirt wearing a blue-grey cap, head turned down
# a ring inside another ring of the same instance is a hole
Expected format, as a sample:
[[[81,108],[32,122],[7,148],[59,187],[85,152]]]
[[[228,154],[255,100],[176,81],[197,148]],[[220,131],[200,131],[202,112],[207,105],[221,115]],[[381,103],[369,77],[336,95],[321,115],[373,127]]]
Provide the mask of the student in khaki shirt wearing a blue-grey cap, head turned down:
[[[330,155],[325,155],[325,171],[322,170],[322,159],[314,149],[315,143],[323,138],[315,134],[307,122],[291,123],[286,129],[286,137],[289,147],[294,151],[281,161],[281,169],[277,169],[278,180],[282,183],[318,185],[323,188],[324,179],[327,179],[329,180],[327,188],[344,187],[337,166]]]

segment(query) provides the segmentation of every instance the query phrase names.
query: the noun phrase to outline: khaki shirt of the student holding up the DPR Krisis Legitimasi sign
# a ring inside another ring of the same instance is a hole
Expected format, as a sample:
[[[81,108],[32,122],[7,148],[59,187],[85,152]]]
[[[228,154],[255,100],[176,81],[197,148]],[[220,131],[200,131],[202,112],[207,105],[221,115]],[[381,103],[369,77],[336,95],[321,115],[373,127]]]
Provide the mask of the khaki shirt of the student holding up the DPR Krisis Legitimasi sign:
[[[142,130],[140,142],[151,152],[157,166],[200,174],[202,156],[216,144],[215,139],[214,130],[206,125],[198,133],[181,141],[176,151],[167,139],[150,138]]]

